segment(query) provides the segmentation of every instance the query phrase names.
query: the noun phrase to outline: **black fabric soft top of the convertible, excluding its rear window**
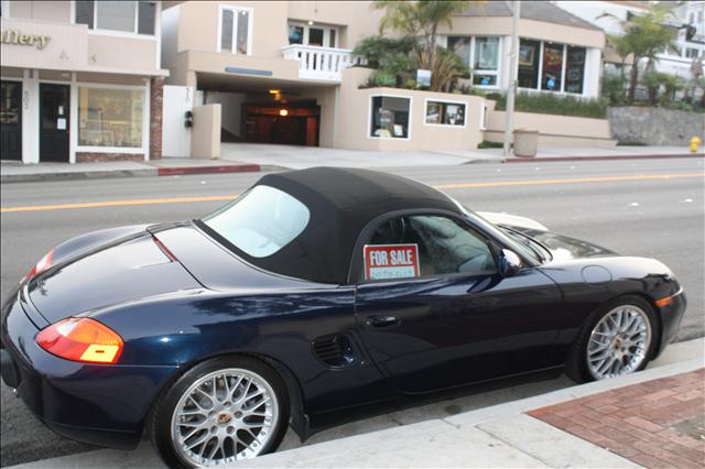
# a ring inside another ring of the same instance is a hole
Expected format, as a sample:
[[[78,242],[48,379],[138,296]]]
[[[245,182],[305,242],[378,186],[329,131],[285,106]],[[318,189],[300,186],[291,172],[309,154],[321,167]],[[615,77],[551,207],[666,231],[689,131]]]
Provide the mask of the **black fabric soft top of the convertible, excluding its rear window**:
[[[272,173],[258,185],[281,189],[311,212],[299,237],[272,255],[248,262],[270,272],[312,282],[345,283],[360,231],[376,217],[395,210],[459,212],[443,193],[405,177],[369,170],[314,167]]]

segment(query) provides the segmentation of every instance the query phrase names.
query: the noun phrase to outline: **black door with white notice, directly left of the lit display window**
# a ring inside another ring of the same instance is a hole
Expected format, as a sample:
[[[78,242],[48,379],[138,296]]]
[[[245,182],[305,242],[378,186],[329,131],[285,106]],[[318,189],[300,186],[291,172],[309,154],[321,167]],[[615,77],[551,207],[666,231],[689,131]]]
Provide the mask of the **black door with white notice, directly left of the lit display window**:
[[[68,163],[69,90],[67,85],[40,84],[40,161]]]

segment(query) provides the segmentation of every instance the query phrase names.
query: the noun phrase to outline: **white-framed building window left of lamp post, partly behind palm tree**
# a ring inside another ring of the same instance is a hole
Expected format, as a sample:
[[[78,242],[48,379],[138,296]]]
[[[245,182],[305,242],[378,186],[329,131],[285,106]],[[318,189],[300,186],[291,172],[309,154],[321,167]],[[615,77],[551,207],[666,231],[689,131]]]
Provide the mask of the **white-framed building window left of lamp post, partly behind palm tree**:
[[[499,86],[499,37],[448,36],[447,46],[471,68],[473,85]]]

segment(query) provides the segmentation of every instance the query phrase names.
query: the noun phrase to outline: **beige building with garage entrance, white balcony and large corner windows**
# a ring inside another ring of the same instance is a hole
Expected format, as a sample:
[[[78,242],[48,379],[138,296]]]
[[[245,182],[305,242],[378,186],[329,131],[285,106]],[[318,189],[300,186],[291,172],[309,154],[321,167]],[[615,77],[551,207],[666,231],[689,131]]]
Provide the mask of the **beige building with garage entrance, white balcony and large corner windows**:
[[[520,90],[597,97],[603,31],[550,2],[522,3]],[[494,102],[484,98],[364,86],[371,72],[351,52],[381,17],[369,1],[164,1],[166,84],[193,89],[196,106],[220,103],[224,141],[398,151],[495,140]],[[471,8],[441,33],[473,69],[467,85],[507,89],[508,2]],[[583,137],[579,123],[545,122],[544,142]],[[586,128],[588,143],[611,144],[607,126]]]

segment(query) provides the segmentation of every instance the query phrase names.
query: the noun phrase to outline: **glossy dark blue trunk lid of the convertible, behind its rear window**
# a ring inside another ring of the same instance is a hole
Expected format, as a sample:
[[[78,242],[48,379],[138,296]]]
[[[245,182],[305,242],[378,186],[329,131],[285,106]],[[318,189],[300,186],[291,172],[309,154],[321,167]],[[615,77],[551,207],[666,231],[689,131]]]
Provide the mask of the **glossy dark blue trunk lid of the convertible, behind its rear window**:
[[[131,299],[200,286],[145,230],[66,258],[26,284],[29,299],[50,324]]]

